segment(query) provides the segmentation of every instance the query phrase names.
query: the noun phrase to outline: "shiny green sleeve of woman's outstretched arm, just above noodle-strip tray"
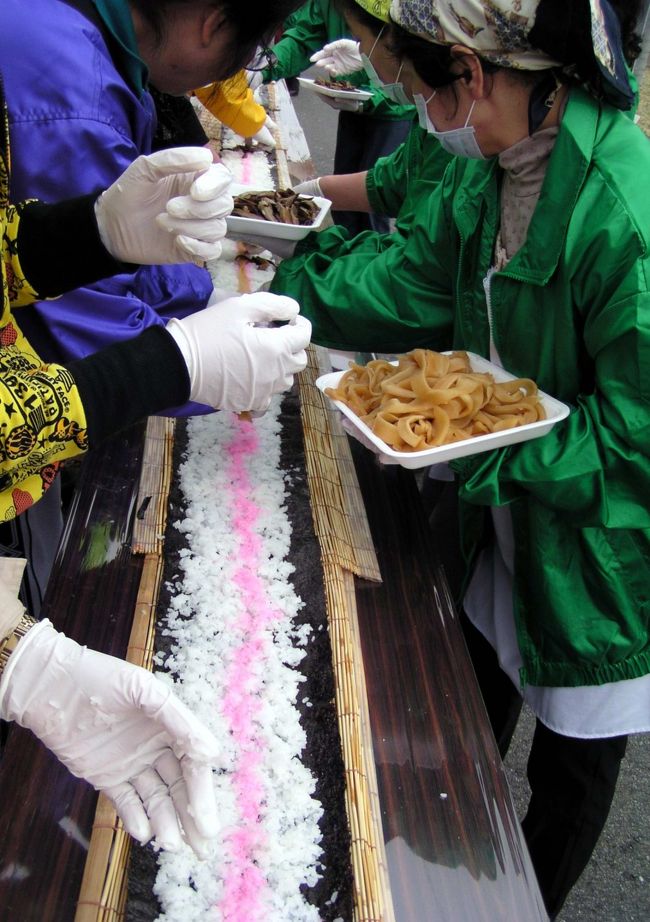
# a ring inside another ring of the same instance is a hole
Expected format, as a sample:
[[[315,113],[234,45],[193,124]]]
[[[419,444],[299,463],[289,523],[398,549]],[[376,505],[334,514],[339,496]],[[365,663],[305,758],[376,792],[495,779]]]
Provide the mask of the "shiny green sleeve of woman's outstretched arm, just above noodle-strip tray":
[[[350,239],[333,227],[280,264],[271,290],[300,303],[314,342],[364,352],[451,347],[453,261],[438,192],[422,201],[408,236]]]

